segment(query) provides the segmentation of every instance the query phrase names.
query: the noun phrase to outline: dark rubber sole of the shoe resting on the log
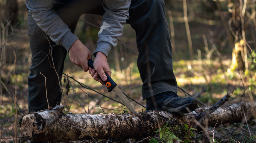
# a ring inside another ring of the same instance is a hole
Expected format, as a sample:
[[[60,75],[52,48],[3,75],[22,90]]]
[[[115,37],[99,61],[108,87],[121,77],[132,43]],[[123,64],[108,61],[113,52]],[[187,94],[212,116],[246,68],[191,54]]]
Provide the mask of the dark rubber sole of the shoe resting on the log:
[[[166,109],[166,108],[162,107],[162,108],[152,108],[152,109],[149,109],[147,111],[168,111],[169,113],[188,113],[186,107],[188,107],[188,109],[191,112],[195,111],[195,109],[197,108],[197,101],[193,100],[190,103],[184,104],[184,105],[179,106],[177,108]]]

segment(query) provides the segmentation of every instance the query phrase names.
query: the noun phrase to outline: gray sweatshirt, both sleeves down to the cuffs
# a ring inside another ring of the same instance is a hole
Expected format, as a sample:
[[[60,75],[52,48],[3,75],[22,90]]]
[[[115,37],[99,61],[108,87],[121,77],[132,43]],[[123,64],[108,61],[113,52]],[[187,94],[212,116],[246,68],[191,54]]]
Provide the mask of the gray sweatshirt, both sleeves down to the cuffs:
[[[47,33],[57,44],[69,51],[75,40],[78,39],[68,26],[53,10],[53,0],[25,0],[29,12],[36,24]],[[122,35],[126,20],[129,19],[131,0],[103,0],[105,10],[98,33],[99,40],[94,52],[103,52],[106,56],[117,45],[117,40]]]

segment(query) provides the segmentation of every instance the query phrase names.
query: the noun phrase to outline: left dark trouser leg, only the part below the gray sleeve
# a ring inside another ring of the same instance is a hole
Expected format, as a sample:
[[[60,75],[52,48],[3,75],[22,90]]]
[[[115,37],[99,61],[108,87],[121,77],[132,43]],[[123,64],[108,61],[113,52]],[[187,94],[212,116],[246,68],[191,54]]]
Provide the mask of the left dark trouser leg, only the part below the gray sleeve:
[[[61,75],[60,71],[63,71],[67,51],[62,46],[55,45],[49,36],[41,31],[31,14],[28,17],[28,24],[32,53],[31,73],[28,77],[28,105],[29,112],[32,112],[47,109],[48,103],[50,107],[60,104],[61,88],[58,83],[58,76]],[[51,48],[51,46],[53,47]],[[52,54],[49,54],[50,50]]]

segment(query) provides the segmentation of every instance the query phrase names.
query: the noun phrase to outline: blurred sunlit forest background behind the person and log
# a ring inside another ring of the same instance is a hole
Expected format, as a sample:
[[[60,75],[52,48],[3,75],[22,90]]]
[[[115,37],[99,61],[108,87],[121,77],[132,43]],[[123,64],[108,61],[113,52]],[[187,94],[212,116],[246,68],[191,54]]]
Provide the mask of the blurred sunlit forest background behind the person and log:
[[[202,102],[199,107],[217,103],[231,89],[234,94],[226,104],[255,101],[255,3],[256,0],[165,0],[178,95],[195,96]],[[31,53],[27,15],[24,0],[0,0],[0,142],[4,143],[27,142],[19,132],[19,119],[28,113]],[[100,21],[100,16],[83,15],[77,24],[75,34],[91,52],[96,49]],[[140,112],[145,111],[145,101],[141,97],[135,36],[126,24],[108,62],[114,81]],[[66,110],[84,114],[127,112],[115,101],[115,94],[77,69],[68,56],[65,62],[64,73],[70,74],[62,78],[61,104]],[[254,142],[255,128],[255,119],[248,124],[223,125],[214,131],[215,142]],[[213,136],[212,132],[209,134]],[[203,133],[195,135],[196,141],[203,140]]]

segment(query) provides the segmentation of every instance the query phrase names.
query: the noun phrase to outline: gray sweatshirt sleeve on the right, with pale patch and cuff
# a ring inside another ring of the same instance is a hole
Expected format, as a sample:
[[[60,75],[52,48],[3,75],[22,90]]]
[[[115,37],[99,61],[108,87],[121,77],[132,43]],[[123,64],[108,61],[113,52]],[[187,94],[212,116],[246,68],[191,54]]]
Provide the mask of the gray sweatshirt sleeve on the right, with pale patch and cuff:
[[[126,20],[129,19],[131,0],[103,0],[105,10],[98,33],[99,40],[94,56],[98,51],[106,56],[117,45],[118,37],[123,33]]]

